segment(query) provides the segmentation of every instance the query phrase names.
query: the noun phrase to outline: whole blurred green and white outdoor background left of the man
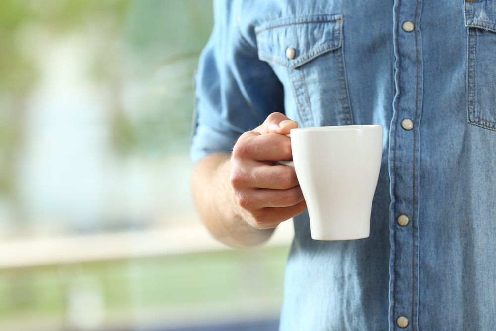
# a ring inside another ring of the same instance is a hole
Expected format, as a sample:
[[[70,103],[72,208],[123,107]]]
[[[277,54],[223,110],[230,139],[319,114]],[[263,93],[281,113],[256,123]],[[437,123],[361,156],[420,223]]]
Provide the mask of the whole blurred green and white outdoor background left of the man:
[[[0,1],[0,330],[277,322],[291,234],[224,248],[190,198],[212,26],[207,0]]]

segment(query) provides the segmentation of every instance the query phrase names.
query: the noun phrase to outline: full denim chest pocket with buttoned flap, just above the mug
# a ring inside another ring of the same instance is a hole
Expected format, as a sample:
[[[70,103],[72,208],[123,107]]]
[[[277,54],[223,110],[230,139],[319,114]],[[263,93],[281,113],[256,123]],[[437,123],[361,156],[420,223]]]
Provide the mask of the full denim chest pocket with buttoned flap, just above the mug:
[[[301,126],[353,124],[342,26],[342,15],[312,15],[255,27],[258,58],[279,77],[286,114]]]

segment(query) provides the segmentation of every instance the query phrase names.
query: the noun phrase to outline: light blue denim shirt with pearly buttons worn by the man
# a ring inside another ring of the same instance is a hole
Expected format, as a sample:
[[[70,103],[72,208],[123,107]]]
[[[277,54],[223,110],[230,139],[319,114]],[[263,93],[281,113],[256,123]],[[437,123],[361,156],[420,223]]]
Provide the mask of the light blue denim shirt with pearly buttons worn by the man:
[[[312,240],[308,214],[295,217],[280,330],[495,330],[496,1],[214,12],[193,160],[276,111],[301,127],[384,126],[370,237]]]

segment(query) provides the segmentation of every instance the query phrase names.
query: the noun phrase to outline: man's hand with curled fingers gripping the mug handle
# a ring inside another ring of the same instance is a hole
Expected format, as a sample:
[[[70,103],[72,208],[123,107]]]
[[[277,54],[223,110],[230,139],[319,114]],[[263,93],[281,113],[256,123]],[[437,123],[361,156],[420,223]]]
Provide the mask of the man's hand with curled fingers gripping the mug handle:
[[[275,228],[307,208],[295,169],[274,165],[292,159],[291,139],[284,134],[297,127],[296,121],[272,113],[234,146],[230,184],[238,213],[252,227]]]

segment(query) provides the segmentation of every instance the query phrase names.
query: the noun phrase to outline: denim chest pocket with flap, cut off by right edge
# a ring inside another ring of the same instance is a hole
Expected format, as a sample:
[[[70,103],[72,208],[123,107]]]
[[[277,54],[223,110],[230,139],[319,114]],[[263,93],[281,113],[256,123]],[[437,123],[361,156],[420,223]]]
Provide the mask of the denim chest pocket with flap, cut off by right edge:
[[[466,0],[468,121],[496,130],[496,2]]]

